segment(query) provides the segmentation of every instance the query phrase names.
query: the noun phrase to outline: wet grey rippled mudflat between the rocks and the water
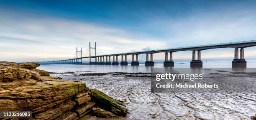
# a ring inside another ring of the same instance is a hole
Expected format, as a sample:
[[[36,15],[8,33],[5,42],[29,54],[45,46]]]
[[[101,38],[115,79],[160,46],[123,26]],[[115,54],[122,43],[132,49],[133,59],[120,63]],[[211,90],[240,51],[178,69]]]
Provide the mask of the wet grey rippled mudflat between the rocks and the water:
[[[256,114],[256,93],[151,93],[150,74],[51,75],[85,82],[124,101],[132,120],[250,120]]]

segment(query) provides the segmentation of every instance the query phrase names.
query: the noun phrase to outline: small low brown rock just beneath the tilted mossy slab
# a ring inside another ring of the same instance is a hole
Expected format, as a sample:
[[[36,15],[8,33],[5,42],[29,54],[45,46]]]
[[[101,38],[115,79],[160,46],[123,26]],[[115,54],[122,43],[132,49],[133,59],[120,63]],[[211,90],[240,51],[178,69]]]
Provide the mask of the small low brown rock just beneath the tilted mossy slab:
[[[101,108],[92,108],[92,113],[99,118],[115,118],[115,119],[119,118],[118,116],[114,115],[113,113],[103,110]]]

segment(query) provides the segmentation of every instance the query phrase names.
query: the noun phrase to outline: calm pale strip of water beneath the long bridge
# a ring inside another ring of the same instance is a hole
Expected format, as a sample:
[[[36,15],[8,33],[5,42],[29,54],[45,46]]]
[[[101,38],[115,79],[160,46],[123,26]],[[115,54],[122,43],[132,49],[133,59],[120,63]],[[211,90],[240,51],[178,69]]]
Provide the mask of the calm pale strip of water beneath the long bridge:
[[[163,63],[155,63],[154,67],[163,67]],[[188,68],[190,67],[189,62],[174,62],[174,67]],[[204,68],[231,68],[231,61],[208,61],[203,62]],[[256,60],[247,60],[248,68],[256,68]],[[88,64],[64,64],[64,65],[40,65],[38,69],[50,71],[50,72],[90,72],[90,73],[101,73],[101,72],[151,72],[151,67],[146,67],[143,63],[140,66],[112,66],[112,65],[88,65]]]

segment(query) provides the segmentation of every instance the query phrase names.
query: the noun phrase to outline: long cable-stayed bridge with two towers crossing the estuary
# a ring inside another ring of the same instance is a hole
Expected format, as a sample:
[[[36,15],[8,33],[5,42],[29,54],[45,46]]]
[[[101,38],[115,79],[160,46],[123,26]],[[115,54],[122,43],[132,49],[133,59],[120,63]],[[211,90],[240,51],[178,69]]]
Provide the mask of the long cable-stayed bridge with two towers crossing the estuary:
[[[169,48],[169,49],[156,49],[149,51],[134,51],[134,52],[126,52],[126,53],[118,53],[118,54],[105,54],[105,55],[96,55],[96,42],[95,47],[91,47],[91,43],[89,43],[90,47],[90,55],[82,57],[82,48],[80,51],[76,51],[77,54],[81,53],[81,57],[76,57],[74,59],[65,59],[65,60],[57,60],[57,61],[42,61],[39,64],[82,64],[82,59],[89,58],[89,64],[99,64],[99,65],[119,65],[118,56],[121,56],[120,65],[125,66],[128,65],[127,56],[132,55],[131,66],[138,66],[138,55],[146,54],[145,66],[154,66],[153,54],[155,53],[165,53],[165,61],[164,67],[173,67],[174,61],[172,58],[172,53],[177,51],[192,51],[192,61],[190,62],[190,67],[202,67],[201,61],[201,51],[207,49],[217,49],[217,48],[234,48],[234,59],[232,61],[232,68],[246,68],[246,60],[244,59],[244,49],[246,47],[256,46],[256,40],[250,41],[242,41],[242,42],[227,42],[220,44],[207,44],[207,45],[197,45],[190,47],[177,47],[177,48]],[[95,49],[95,55],[91,56],[91,49]],[[240,49],[240,56],[239,56]],[[196,59],[197,52],[197,59]],[[168,56],[169,55],[169,56]],[[150,59],[149,59],[150,56]],[[111,63],[111,57],[112,63]],[[95,59],[95,61],[92,61]]]

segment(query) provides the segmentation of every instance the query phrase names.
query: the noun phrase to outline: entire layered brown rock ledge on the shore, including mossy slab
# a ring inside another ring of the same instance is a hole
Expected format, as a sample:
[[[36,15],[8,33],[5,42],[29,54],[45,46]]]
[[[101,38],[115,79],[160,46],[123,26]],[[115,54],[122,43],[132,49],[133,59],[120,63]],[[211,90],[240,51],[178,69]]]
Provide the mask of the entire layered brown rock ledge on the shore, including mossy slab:
[[[58,80],[38,66],[0,62],[0,111],[32,111],[32,118],[22,120],[79,120],[90,113],[115,119],[126,115],[123,102],[96,89],[90,91],[85,83]]]

